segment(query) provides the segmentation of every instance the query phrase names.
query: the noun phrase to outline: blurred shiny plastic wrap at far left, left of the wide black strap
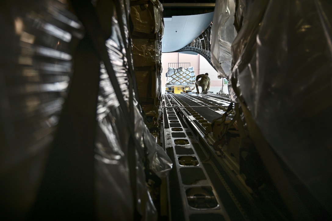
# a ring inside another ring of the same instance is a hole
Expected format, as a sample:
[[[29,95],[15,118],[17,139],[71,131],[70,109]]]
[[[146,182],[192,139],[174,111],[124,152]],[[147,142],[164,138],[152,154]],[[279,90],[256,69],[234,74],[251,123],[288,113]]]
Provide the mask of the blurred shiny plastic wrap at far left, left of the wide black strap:
[[[2,1],[0,207],[23,219],[34,203],[84,31],[66,1]]]

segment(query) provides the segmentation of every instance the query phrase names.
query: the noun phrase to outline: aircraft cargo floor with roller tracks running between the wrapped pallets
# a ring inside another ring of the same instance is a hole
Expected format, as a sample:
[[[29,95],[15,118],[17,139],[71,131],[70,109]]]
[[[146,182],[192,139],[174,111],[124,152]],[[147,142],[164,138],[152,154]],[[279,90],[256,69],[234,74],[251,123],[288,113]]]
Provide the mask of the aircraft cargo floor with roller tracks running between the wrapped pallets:
[[[278,212],[271,212],[277,210],[270,199],[258,199],[246,185],[246,177],[240,173],[238,144],[215,150],[216,139],[212,133],[205,135],[206,128],[229,105],[225,95],[163,95],[163,146],[173,161],[168,178],[172,220],[278,217]],[[231,111],[227,119],[233,116]]]

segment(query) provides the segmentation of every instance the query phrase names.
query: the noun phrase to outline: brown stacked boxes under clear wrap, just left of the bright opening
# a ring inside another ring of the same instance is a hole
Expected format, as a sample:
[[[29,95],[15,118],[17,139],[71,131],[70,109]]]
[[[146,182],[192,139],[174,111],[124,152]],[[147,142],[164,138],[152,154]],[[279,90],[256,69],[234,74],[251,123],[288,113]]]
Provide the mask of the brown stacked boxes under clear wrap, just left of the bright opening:
[[[130,1],[133,65],[139,99],[146,116],[156,119],[161,106],[162,11],[158,0]]]

